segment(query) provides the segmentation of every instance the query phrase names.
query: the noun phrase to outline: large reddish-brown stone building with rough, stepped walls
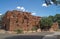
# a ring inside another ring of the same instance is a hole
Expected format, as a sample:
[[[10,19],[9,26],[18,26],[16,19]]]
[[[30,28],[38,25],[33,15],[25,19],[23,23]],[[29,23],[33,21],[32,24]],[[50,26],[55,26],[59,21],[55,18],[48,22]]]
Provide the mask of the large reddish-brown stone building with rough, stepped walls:
[[[17,29],[31,30],[34,26],[40,27],[41,17],[33,16],[30,12],[7,11],[3,17],[3,26],[5,30],[13,31]]]

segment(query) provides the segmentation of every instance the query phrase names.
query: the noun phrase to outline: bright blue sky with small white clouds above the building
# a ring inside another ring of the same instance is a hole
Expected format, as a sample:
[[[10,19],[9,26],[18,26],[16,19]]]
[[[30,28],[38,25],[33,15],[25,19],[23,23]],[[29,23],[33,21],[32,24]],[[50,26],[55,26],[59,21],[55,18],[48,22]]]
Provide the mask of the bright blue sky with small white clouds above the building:
[[[60,7],[54,4],[46,6],[44,0],[0,0],[0,15],[8,10],[27,11],[36,16],[60,14]]]

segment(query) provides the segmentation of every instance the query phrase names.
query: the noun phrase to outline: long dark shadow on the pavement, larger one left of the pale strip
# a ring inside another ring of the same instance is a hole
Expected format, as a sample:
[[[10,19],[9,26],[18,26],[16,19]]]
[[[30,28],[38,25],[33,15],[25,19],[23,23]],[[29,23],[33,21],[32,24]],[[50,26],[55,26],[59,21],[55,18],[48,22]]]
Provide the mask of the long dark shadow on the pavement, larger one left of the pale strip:
[[[43,36],[19,35],[19,36],[6,37],[5,39],[42,39],[42,38]]]

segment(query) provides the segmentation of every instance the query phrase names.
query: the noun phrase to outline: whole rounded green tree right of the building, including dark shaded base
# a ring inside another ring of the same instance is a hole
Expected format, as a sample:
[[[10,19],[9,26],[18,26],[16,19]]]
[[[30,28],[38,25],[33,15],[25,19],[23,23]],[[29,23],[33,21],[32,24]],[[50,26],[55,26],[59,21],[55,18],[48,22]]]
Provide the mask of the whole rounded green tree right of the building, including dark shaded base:
[[[40,21],[40,28],[48,30],[52,26],[52,24],[53,24],[52,19],[45,17],[45,18],[42,18]]]

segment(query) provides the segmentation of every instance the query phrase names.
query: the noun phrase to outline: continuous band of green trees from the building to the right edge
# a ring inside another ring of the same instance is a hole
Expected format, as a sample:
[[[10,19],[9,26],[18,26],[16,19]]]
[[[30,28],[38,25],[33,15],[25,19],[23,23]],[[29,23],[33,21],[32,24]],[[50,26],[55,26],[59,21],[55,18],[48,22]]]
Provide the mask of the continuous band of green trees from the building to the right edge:
[[[60,28],[60,14],[56,14],[55,16],[48,16],[48,17],[42,17],[40,21],[41,27],[50,27],[52,26],[53,22],[58,22],[59,28]]]

